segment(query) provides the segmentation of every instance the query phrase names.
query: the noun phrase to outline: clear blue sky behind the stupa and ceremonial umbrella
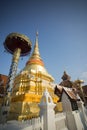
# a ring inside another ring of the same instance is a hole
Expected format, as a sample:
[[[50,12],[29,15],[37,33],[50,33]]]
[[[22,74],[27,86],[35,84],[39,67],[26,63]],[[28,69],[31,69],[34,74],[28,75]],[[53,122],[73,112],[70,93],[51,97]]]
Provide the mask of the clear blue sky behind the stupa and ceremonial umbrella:
[[[3,42],[11,32],[25,34],[32,41],[39,32],[39,49],[48,73],[56,83],[64,70],[74,81],[87,84],[87,1],[86,0],[3,0],[0,2],[0,73],[8,75],[12,55]],[[31,53],[32,53],[31,51]],[[20,58],[18,70],[30,55]]]

